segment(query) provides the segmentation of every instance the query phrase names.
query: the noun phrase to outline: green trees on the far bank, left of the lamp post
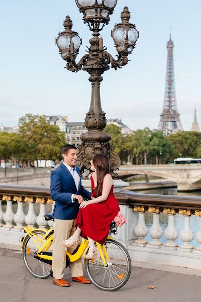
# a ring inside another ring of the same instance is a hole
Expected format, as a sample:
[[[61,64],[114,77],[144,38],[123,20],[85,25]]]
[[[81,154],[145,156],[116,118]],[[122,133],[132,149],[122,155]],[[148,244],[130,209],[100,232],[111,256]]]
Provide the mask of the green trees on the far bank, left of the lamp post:
[[[65,133],[43,116],[27,114],[19,120],[19,133],[0,133],[0,158],[19,162],[56,160],[66,143]]]

